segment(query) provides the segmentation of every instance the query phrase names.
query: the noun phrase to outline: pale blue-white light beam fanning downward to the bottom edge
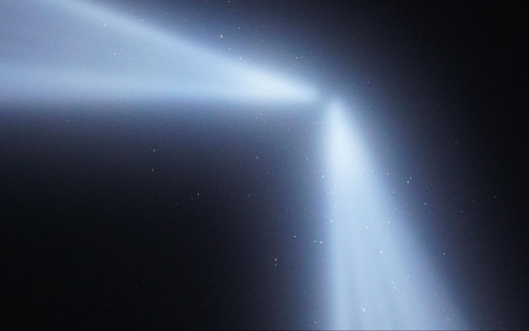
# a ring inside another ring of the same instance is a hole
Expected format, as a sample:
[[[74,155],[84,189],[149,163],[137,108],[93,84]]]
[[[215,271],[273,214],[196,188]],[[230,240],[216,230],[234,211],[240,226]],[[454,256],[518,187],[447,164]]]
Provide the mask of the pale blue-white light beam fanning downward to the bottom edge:
[[[333,329],[462,329],[460,311],[447,298],[421,247],[394,219],[388,194],[351,116],[329,112],[325,174],[333,282]]]

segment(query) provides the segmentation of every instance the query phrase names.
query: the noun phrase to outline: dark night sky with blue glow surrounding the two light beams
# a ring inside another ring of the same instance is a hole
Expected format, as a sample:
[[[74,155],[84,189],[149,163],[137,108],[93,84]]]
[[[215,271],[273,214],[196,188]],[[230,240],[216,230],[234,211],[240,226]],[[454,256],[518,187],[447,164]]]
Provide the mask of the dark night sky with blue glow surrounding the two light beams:
[[[1,328],[325,329],[333,97],[468,327],[529,327],[521,2],[103,4],[212,52],[233,34],[234,57],[324,101],[23,99],[4,73]]]

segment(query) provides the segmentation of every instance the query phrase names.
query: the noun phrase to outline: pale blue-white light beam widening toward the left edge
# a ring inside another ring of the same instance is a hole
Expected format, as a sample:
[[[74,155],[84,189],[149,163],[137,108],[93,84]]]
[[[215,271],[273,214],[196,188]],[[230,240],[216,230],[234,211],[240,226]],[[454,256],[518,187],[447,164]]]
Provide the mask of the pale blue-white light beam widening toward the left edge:
[[[0,100],[291,102],[316,95],[95,3],[6,1],[0,8]]]

